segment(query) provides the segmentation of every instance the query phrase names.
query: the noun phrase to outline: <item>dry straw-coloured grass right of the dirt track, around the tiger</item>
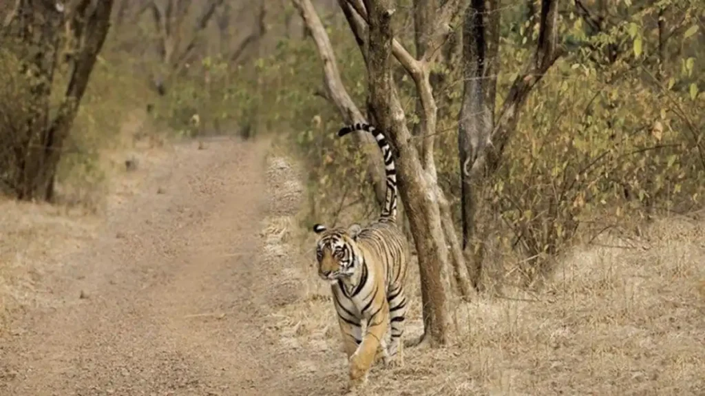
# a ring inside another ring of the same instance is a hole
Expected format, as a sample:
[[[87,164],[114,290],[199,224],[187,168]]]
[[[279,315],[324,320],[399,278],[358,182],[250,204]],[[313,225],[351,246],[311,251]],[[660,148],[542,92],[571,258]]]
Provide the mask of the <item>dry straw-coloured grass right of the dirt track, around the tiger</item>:
[[[295,172],[279,177],[293,180]],[[300,190],[274,192],[274,199]],[[455,302],[451,345],[407,349],[405,366],[373,369],[364,393],[702,395],[704,229],[704,223],[682,219],[658,221],[639,247],[574,249],[540,292],[505,286],[503,297]],[[298,228],[292,213],[270,218],[263,235],[267,252],[293,263],[286,282],[302,290],[274,313],[282,347],[327,350],[327,365],[343,383],[333,304],[313,267],[314,236]],[[614,237],[601,242],[620,245]],[[422,329],[418,284],[414,268],[408,280],[410,337]]]

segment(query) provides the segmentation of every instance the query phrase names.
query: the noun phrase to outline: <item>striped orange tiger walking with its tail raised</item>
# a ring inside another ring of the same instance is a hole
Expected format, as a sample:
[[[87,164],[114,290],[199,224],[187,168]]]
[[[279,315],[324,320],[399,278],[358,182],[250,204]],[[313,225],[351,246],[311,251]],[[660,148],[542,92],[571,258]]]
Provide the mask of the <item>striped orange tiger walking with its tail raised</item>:
[[[383,361],[384,366],[403,366],[405,280],[411,254],[396,223],[398,189],[391,147],[384,133],[367,123],[347,125],[338,136],[354,131],[371,133],[384,157],[386,196],[381,214],[366,227],[353,223],[348,228],[328,229],[315,224],[313,230],[319,235],[318,274],[331,284],[348,355],[349,383],[357,387],[367,382],[369,369],[377,361]],[[364,335],[363,321],[367,325]]]

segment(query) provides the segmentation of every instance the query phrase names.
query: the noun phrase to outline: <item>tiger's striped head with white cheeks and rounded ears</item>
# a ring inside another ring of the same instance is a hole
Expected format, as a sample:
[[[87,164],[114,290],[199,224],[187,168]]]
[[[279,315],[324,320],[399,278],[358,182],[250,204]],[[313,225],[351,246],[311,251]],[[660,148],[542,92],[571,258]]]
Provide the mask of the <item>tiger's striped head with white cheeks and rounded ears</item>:
[[[316,224],[313,230],[320,235],[316,242],[318,275],[331,284],[352,278],[357,268],[360,268],[360,253],[356,242],[362,227],[353,224],[348,228],[329,230],[325,225]]]

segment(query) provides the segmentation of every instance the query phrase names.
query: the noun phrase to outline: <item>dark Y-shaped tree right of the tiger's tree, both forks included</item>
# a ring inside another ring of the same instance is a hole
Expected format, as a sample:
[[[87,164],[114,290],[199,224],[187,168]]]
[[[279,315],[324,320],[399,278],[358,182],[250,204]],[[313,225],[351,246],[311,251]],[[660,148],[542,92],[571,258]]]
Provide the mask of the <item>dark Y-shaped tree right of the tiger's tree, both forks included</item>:
[[[496,70],[498,67],[496,63],[497,50],[496,47],[491,46],[489,37],[494,38],[498,35],[499,21],[489,21],[487,18],[482,18],[482,12],[477,13],[479,9],[482,9],[481,7],[487,8],[484,12],[493,15],[496,14],[492,11],[496,10],[497,2],[473,0],[472,8],[466,14],[465,28],[470,30],[470,35],[465,37],[466,58],[464,62],[467,75],[458,136],[462,166],[463,245],[466,249],[472,249],[472,252],[467,252],[467,250],[466,252],[467,256],[474,258],[474,264],[471,264],[468,269],[474,276],[476,285],[481,269],[479,266],[482,264],[482,245],[479,246],[479,254],[475,254],[473,247],[474,240],[478,239],[477,235],[473,235],[473,233],[477,229],[474,214],[477,213],[477,204],[479,203],[477,201],[479,188],[482,187],[484,180],[499,168],[502,154],[517,128],[522,106],[529,93],[562,55],[562,51],[556,45],[558,1],[541,0],[539,37],[534,56],[524,66],[522,73],[515,78],[498,117],[494,120],[488,120],[486,117],[494,113],[494,100],[489,101],[488,99],[494,98],[494,87],[483,87],[482,83],[473,81],[484,81],[487,79],[483,76],[496,75],[491,70]],[[476,22],[475,18],[484,20],[484,28],[482,23]],[[477,27],[481,27],[482,31],[473,32]],[[483,42],[484,45],[480,45]],[[489,72],[483,71],[488,67]],[[489,109],[493,111],[489,111]],[[479,117],[479,114],[486,116]],[[477,243],[482,244],[482,240]]]

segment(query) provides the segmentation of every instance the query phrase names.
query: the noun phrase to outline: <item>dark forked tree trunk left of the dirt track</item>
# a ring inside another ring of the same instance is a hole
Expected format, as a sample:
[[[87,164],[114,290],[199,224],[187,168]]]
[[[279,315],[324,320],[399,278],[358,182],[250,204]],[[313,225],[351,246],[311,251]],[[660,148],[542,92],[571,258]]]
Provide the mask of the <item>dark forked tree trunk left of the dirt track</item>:
[[[18,4],[19,38],[25,45],[35,43],[39,51],[27,59],[35,66],[33,70],[37,83],[30,92],[32,111],[27,120],[27,154],[18,163],[22,176],[18,180],[17,196],[26,200],[51,200],[63,142],[71,130],[95,59],[107,35],[113,0],[81,0],[75,3],[72,10],[67,10],[70,37],[66,39],[76,46],[72,51],[73,70],[59,111],[51,121],[49,96],[54,69],[59,61],[56,49],[64,15],[56,8],[46,6],[43,1],[20,1]]]

